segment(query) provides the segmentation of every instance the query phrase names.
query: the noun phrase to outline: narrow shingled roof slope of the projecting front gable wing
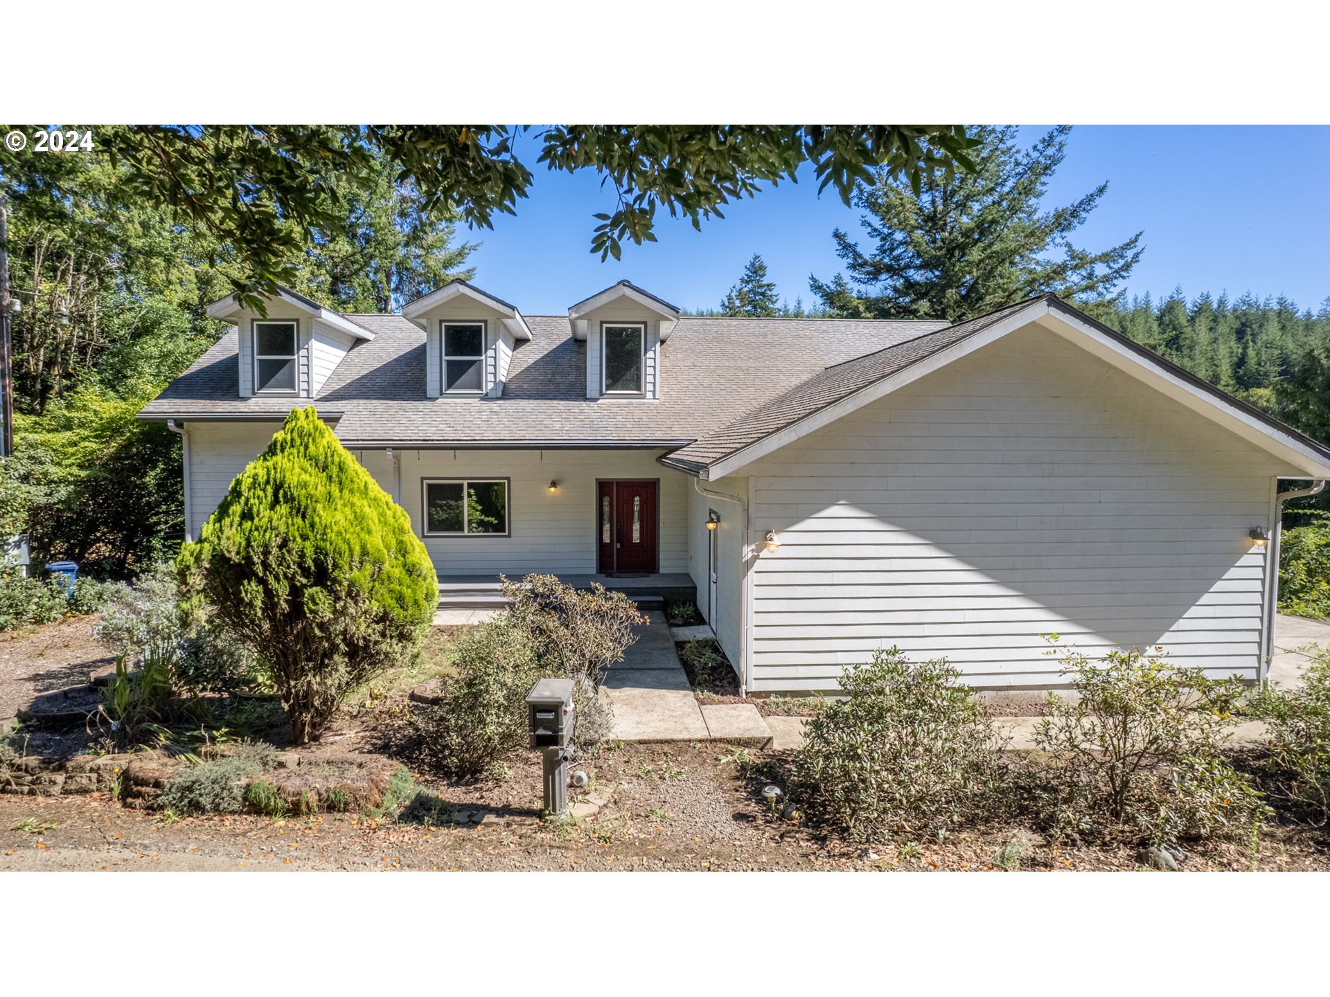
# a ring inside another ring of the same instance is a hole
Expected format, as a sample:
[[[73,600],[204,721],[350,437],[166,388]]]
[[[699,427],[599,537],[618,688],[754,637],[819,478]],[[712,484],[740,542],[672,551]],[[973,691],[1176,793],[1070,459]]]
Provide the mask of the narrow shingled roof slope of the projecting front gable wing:
[[[883,378],[898,374],[976,332],[982,332],[1039,300],[1043,298],[1008,304],[988,315],[980,315],[968,322],[894,343],[867,356],[858,356],[827,367],[753,411],[745,412],[739,419],[662,457],[661,463],[697,473],[841,399],[876,384]]]

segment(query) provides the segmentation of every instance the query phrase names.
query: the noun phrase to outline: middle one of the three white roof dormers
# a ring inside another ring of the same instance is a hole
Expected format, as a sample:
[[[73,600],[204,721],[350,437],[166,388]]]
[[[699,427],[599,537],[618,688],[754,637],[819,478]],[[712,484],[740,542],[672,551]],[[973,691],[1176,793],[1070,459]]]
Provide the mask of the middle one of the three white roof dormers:
[[[501,397],[512,351],[531,339],[515,306],[466,280],[408,302],[402,316],[424,330],[428,397]]]

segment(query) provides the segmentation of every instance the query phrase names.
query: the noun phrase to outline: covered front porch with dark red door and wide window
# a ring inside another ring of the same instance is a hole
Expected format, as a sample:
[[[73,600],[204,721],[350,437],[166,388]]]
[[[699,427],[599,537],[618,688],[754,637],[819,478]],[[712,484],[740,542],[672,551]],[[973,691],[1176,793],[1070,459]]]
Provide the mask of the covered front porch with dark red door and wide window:
[[[657,463],[660,448],[351,452],[411,517],[440,610],[501,606],[500,576],[600,582],[654,605],[698,596],[706,532],[692,522],[690,480]]]

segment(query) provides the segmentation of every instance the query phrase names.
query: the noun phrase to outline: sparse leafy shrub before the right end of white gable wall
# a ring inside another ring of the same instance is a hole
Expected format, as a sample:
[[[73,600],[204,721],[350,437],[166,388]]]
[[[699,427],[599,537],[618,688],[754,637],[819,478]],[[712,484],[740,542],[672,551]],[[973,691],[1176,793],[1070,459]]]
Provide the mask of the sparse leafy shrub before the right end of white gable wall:
[[[1056,638],[1055,638],[1056,639]],[[1269,814],[1252,782],[1224,756],[1245,689],[1160,653],[1111,651],[1103,661],[1059,649],[1076,698],[1049,694],[1035,727],[1037,778],[1055,835],[1257,840]]]

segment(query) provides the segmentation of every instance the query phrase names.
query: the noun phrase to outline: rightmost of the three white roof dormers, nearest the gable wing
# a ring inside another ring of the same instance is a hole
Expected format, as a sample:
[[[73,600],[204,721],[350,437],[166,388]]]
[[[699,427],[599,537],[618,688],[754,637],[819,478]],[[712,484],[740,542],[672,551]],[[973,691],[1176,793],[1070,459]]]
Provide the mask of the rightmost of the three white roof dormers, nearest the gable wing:
[[[587,343],[587,397],[658,399],[661,343],[678,308],[620,280],[568,310],[573,339]]]

